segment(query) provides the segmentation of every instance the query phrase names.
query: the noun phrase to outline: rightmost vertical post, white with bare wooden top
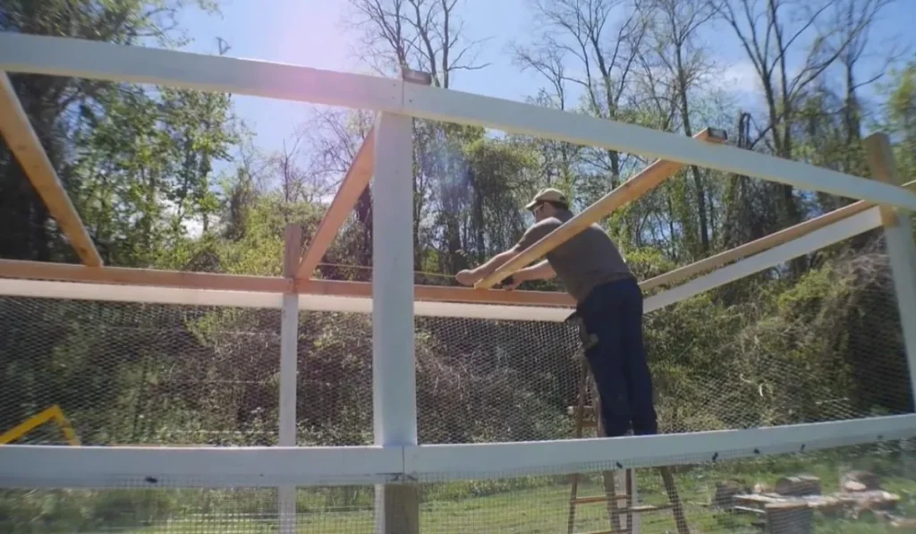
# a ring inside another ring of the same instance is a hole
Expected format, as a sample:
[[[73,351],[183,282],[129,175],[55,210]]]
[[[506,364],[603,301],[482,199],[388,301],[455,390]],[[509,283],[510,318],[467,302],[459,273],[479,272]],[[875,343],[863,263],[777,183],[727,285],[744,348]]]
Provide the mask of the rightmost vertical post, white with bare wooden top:
[[[902,184],[887,135],[878,133],[868,136],[865,148],[872,178],[894,185]],[[906,210],[881,206],[884,238],[910,369],[910,391],[916,403],[916,244],[913,243],[910,215]]]

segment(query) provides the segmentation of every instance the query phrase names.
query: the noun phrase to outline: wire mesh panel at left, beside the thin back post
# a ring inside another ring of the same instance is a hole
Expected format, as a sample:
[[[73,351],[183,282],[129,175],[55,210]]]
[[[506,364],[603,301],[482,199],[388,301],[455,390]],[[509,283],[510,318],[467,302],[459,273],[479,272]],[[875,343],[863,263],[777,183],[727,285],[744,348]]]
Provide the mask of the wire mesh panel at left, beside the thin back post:
[[[56,406],[84,445],[273,444],[278,354],[279,311],[0,297],[0,433]]]

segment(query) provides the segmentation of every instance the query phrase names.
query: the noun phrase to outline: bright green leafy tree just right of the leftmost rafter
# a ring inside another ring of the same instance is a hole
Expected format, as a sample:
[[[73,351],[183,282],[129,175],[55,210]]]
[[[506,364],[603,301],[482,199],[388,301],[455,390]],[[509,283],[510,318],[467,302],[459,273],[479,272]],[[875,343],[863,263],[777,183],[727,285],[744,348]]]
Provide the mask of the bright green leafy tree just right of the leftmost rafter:
[[[170,262],[191,232],[211,231],[222,200],[213,162],[238,141],[231,113],[225,94],[121,86],[81,107],[68,174],[107,263]]]

